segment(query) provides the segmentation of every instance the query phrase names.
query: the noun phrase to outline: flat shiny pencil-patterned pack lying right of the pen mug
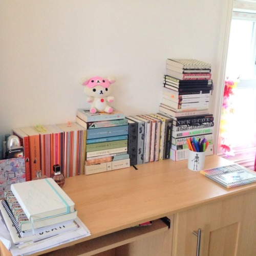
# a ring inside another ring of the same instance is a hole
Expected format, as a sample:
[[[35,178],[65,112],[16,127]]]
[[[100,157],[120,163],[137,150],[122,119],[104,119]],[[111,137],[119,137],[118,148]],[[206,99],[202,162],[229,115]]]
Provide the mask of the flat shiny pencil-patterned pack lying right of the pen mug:
[[[256,181],[256,172],[239,164],[231,164],[200,171],[201,174],[226,188],[237,187]]]

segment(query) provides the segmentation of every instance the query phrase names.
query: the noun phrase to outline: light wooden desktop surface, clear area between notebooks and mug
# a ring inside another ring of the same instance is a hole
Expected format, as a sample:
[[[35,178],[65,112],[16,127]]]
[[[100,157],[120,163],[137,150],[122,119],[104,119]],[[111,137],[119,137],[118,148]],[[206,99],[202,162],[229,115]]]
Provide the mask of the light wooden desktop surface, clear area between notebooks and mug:
[[[229,163],[216,155],[207,156],[205,168]],[[187,160],[163,160],[137,168],[66,179],[62,188],[75,202],[78,217],[91,231],[90,237],[70,244],[256,189],[256,183],[227,189],[189,170]]]

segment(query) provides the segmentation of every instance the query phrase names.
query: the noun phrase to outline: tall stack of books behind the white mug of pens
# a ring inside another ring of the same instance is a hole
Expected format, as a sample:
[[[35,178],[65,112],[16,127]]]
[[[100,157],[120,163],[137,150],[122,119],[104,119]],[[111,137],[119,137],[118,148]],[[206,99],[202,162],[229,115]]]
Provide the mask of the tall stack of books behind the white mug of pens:
[[[213,154],[213,116],[209,114],[211,65],[196,59],[167,59],[159,111],[174,119],[170,158],[187,159],[186,139],[206,138]],[[210,121],[206,121],[210,120]]]

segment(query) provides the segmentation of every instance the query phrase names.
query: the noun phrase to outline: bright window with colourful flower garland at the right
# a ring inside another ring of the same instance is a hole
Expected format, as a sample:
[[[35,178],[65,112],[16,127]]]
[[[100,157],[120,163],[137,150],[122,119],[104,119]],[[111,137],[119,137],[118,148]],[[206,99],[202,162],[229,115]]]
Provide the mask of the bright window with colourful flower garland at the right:
[[[233,12],[220,136],[225,157],[251,168],[256,151],[256,14]],[[228,96],[228,97],[227,97]]]

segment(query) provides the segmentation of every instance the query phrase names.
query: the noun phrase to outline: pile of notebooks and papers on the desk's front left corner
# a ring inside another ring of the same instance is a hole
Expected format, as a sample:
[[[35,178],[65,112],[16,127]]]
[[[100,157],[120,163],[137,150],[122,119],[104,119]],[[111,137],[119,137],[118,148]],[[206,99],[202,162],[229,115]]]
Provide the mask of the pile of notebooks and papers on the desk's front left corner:
[[[0,209],[20,249],[80,228],[74,202],[52,178],[12,184]]]

